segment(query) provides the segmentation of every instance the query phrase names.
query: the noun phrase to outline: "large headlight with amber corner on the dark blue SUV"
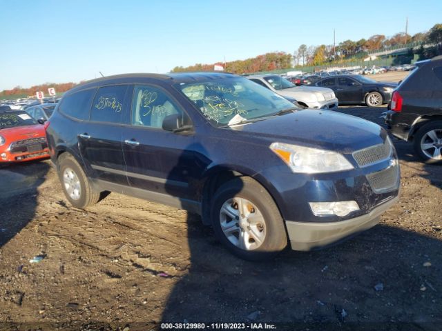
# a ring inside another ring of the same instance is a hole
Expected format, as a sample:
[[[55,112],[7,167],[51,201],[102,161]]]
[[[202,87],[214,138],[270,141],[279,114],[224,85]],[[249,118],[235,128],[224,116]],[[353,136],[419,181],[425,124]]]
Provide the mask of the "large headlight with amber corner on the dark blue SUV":
[[[319,150],[288,143],[272,143],[270,149],[282,159],[293,172],[318,174],[353,169],[343,155],[329,150]]]

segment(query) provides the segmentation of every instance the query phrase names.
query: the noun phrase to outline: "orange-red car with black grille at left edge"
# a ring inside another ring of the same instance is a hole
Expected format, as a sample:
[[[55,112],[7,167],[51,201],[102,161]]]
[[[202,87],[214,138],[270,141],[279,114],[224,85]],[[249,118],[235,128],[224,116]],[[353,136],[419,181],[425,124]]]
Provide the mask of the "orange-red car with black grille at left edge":
[[[44,126],[21,110],[0,110],[0,164],[47,157]]]

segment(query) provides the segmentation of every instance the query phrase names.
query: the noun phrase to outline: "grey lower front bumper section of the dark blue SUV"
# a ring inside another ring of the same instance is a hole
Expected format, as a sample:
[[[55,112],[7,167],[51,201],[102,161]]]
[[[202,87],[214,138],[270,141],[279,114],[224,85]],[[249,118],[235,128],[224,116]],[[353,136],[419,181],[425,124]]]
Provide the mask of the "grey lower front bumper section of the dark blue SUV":
[[[286,221],[287,233],[292,250],[314,250],[332,243],[348,239],[354,235],[372,228],[379,222],[379,217],[390,208],[399,197],[396,196],[381,203],[368,214],[330,223],[307,223]]]

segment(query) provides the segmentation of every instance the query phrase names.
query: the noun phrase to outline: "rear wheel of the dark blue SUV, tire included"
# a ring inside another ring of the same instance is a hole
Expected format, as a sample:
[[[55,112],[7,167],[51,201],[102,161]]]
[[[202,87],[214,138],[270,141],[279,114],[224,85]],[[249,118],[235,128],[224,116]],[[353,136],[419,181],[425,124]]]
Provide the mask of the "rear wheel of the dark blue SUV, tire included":
[[[58,159],[58,176],[66,199],[74,207],[84,209],[99,201],[100,192],[91,188],[81,165],[72,155],[61,154]]]

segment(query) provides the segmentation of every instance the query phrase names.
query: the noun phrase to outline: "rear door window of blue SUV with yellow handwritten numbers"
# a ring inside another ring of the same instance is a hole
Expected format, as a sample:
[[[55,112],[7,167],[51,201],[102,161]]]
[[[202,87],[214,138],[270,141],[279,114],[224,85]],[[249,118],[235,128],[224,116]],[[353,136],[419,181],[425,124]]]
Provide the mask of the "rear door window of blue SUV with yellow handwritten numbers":
[[[104,86],[95,94],[90,121],[121,123],[127,85]]]

